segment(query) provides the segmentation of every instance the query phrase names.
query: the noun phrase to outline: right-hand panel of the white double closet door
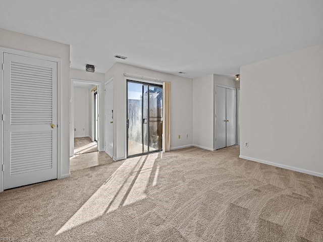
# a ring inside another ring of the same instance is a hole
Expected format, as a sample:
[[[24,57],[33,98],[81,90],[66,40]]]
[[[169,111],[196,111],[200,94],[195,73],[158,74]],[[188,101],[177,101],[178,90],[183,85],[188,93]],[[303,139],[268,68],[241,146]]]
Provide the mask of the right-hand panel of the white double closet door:
[[[236,144],[236,90],[226,88],[227,92],[227,147]]]

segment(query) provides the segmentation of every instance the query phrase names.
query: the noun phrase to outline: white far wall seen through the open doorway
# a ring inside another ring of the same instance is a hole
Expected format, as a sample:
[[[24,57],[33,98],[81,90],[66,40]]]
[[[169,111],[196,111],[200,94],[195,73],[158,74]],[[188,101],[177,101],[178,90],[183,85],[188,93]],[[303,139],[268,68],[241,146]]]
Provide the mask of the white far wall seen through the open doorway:
[[[89,136],[89,90],[74,88],[74,137]]]

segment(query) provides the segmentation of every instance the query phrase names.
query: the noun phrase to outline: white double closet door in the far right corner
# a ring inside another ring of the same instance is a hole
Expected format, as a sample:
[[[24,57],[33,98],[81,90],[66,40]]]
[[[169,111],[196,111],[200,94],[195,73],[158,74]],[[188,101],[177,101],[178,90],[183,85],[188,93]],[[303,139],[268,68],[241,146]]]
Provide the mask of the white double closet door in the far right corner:
[[[216,150],[236,144],[236,89],[216,86]]]

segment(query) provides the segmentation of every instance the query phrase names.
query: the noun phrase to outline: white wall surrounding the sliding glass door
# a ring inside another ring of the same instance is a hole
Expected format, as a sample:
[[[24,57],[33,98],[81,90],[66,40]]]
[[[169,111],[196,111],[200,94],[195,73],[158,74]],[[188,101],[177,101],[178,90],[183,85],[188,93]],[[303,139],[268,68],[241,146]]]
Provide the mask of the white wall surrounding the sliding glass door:
[[[105,81],[114,77],[115,159],[126,153],[126,78],[124,73],[171,82],[171,148],[192,144],[192,79],[116,63],[105,73]],[[178,139],[181,135],[181,139]],[[188,138],[186,138],[188,135]]]

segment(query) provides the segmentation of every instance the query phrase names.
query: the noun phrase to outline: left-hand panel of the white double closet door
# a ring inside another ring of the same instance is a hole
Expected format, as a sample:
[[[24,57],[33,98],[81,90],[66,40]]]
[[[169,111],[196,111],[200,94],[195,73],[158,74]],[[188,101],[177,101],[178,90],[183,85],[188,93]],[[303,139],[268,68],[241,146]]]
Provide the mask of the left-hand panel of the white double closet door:
[[[216,86],[216,150],[227,146],[226,88]]]

